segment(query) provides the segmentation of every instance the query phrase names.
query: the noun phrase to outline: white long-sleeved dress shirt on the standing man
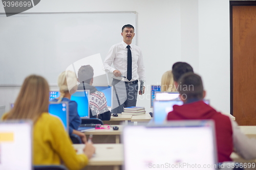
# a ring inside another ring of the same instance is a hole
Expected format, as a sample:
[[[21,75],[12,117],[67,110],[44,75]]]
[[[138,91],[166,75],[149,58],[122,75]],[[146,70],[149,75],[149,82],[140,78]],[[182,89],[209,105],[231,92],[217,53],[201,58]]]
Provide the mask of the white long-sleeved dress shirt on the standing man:
[[[113,45],[110,48],[110,51],[108,55],[105,58],[104,61],[104,69],[106,72],[110,72],[113,74],[114,70],[119,70],[121,72],[122,76],[125,76],[126,78],[122,77],[115,77],[112,76],[114,79],[127,81],[127,44],[122,41],[118,44]],[[143,58],[141,54],[140,47],[130,44],[131,46],[131,52],[132,52],[132,80],[142,80],[145,81],[145,67],[143,65]],[[114,67],[111,67],[111,64],[114,64]]]

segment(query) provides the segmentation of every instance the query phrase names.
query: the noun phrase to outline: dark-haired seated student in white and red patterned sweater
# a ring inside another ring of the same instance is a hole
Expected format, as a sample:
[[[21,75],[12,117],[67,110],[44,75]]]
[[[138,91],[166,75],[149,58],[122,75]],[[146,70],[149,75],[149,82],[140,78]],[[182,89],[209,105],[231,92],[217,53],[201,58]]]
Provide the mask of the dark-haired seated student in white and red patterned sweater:
[[[93,67],[91,65],[83,65],[79,68],[77,76],[78,90],[90,90],[90,117],[97,117],[101,120],[110,120],[111,112],[106,105],[106,97],[103,92],[98,91],[93,84]]]

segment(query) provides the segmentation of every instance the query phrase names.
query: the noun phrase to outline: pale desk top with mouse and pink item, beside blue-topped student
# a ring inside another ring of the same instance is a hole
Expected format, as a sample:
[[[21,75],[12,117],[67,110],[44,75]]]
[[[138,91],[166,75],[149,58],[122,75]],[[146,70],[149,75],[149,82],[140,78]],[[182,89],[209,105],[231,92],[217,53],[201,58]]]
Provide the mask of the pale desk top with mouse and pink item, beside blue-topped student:
[[[118,130],[113,130],[113,126],[117,126]],[[110,129],[95,129],[92,131],[84,132],[86,135],[120,135],[123,131],[122,125],[111,125]]]

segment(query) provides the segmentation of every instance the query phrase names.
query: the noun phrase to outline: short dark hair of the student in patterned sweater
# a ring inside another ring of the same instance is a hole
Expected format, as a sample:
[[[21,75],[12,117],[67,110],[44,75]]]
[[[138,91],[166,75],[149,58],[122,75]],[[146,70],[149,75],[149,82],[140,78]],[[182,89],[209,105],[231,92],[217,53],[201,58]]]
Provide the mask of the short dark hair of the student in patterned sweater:
[[[91,65],[83,65],[79,68],[77,73],[78,81],[90,84],[93,78],[93,67]]]

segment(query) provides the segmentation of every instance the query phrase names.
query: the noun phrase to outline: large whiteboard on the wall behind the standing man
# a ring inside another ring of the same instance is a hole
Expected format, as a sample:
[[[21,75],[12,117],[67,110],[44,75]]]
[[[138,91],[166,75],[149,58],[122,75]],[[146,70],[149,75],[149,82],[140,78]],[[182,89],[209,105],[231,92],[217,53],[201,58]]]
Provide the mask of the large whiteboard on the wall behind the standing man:
[[[37,74],[57,84],[60,72],[95,54],[104,61],[122,41],[121,28],[135,27],[136,12],[0,14],[0,85],[21,85]],[[136,44],[136,37],[133,39]],[[109,84],[106,75],[94,85]]]

